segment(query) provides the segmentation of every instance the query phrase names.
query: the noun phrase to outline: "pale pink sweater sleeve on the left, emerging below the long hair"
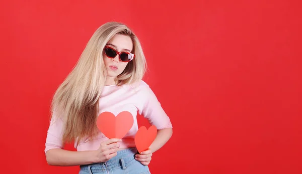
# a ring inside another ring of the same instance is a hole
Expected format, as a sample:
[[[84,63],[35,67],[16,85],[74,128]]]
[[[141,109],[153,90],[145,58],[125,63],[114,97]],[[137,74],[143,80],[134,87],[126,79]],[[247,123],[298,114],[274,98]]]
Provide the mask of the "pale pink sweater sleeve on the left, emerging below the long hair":
[[[63,148],[64,143],[62,142],[62,132],[63,132],[63,120],[57,118],[54,120],[54,117],[51,118],[49,128],[47,130],[45,150],[46,153],[48,150],[53,148]]]

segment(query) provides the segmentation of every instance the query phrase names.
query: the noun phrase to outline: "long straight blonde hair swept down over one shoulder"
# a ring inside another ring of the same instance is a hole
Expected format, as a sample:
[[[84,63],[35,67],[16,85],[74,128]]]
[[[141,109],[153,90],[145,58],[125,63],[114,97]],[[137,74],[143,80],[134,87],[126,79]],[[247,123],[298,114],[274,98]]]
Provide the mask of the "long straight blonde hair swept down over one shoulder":
[[[77,64],[56,90],[51,103],[52,116],[64,121],[63,142],[78,143],[82,138],[93,138],[98,133],[96,125],[98,100],[105,85],[107,70],[103,49],[116,34],[129,36],[135,58],[116,78],[117,85],[139,82],[146,70],[145,57],[136,35],[124,24],[109,22],[92,35]]]

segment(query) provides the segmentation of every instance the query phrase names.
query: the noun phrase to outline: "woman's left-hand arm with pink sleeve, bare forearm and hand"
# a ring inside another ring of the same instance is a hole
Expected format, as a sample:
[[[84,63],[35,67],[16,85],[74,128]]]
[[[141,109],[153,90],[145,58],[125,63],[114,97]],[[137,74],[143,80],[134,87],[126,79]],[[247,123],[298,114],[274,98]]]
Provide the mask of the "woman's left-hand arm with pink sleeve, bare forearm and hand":
[[[120,139],[112,138],[102,142],[97,150],[64,150],[64,143],[61,140],[62,130],[63,121],[61,119],[54,121],[52,118],[47,131],[45,143],[46,161],[49,165],[73,166],[105,162],[116,156],[116,152],[120,146],[118,142],[121,142]]]

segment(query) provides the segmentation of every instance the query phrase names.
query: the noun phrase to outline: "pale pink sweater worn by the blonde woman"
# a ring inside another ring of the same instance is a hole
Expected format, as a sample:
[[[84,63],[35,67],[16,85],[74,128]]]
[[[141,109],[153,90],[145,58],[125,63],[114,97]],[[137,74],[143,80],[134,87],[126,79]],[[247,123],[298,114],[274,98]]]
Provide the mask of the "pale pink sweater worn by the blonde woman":
[[[138,130],[137,126],[137,111],[143,115],[150,124],[155,125],[158,129],[172,128],[170,118],[167,116],[160,102],[149,88],[149,86],[141,81],[135,87],[133,85],[105,86],[99,99],[99,113],[109,111],[115,116],[122,112],[128,111],[133,115],[134,123],[129,132],[123,137],[120,143],[120,148],[135,147],[134,136]],[[62,143],[62,121],[51,120],[46,137],[45,153],[52,148],[64,148]],[[83,140],[77,145],[74,143],[74,148],[78,151],[97,150],[102,141],[108,138],[99,132],[99,135],[94,140]]]

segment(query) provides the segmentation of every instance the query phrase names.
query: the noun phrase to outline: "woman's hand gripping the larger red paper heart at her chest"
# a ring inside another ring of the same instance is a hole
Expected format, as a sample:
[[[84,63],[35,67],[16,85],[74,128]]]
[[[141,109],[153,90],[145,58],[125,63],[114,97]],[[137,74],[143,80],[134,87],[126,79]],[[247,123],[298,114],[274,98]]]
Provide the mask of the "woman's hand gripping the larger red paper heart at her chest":
[[[96,162],[106,162],[117,155],[117,150],[120,147],[118,142],[121,139],[111,138],[103,141],[98,150],[96,150]]]

